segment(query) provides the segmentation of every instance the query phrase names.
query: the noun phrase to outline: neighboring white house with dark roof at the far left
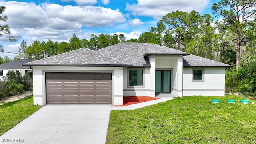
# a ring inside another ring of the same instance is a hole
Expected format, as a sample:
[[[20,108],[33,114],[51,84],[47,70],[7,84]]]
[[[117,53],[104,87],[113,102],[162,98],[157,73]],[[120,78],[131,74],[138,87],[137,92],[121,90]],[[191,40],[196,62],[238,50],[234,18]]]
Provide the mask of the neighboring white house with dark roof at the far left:
[[[8,71],[13,70],[14,72],[19,71],[22,76],[28,71],[30,72],[31,76],[33,74],[32,69],[30,66],[22,66],[22,64],[26,64],[28,62],[32,62],[32,60],[27,60],[27,59],[21,59],[21,60],[16,60],[13,62],[8,62],[6,64],[1,64],[0,65],[0,79],[2,80],[3,76],[6,76]]]

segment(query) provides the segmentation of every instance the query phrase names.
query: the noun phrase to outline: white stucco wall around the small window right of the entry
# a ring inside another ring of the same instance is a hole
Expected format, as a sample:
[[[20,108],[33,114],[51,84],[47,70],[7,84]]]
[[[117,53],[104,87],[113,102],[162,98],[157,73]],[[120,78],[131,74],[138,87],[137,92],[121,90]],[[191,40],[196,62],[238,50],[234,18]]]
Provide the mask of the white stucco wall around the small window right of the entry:
[[[203,68],[204,82],[192,81],[192,68],[183,68],[183,96],[224,96],[225,68]]]

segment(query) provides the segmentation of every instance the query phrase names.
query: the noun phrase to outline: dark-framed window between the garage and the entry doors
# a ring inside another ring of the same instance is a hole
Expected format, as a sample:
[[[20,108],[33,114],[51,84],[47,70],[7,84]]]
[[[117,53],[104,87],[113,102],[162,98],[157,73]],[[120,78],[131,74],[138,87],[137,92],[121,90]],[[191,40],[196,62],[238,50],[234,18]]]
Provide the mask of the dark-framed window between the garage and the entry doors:
[[[129,70],[129,86],[143,86],[143,70]]]

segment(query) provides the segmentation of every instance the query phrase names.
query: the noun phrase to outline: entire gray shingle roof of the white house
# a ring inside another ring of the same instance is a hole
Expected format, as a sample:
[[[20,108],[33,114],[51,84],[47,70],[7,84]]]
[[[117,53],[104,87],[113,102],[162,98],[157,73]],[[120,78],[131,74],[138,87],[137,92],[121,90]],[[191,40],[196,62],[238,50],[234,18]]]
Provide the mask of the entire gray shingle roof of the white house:
[[[183,66],[220,66],[230,65],[188,55],[186,52],[159,46],[157,44],[119,43],[96,51],[80,48],[56,56],[29,62],[30,66],[150,66],[149,55],[182,55]]]

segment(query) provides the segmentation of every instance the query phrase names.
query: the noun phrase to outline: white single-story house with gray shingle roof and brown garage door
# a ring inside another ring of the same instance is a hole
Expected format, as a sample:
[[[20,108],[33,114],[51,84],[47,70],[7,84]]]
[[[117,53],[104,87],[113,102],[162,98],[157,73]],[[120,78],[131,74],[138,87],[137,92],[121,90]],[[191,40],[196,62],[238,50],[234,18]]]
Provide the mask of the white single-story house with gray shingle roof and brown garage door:
[[[123,96],[224,96],[225,68],[156,44],[80,48],[33,66],[34,104],[122,105]]]

